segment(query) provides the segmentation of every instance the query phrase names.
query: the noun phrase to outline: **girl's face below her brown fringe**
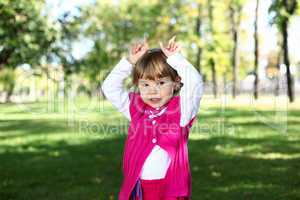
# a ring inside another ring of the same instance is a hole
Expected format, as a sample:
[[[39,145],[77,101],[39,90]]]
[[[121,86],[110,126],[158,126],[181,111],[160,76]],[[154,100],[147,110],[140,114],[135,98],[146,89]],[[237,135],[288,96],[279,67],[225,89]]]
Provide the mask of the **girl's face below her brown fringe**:
[[[165,105],[174,94],[177,82],[172,81],[171,77],[163,77],[156,81],[149,79],[139,79],[138,88],[143,101],[153,108]]]

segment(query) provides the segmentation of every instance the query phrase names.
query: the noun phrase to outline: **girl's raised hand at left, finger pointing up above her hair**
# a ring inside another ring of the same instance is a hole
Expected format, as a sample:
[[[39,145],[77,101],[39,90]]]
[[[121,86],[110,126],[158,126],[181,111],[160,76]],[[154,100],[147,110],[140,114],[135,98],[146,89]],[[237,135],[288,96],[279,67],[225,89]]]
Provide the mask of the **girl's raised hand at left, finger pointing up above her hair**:
[[[144,55],[144,53],[148,50],[149,45],[147,43],[147,39],[144,38],[143,42],[135,42],[129,50],[128,61],[135,65],[138,59]]]

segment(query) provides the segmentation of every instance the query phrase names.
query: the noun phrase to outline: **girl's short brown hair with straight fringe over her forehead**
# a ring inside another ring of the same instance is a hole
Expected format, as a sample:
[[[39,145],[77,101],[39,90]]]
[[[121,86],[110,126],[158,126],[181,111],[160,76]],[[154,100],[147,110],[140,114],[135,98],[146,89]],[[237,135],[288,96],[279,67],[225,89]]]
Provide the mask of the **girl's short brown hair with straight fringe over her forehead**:
[[[132,82],[138,85],[139,79],[156,80],[169,76],[172,81],[176,81],[178,73],[167,63],[167,56],[160,48],[148,50],[135,64],[132,73]],[[181,84],[182,86],[182,84]],[[174,93],[180,90],[175,89]]]

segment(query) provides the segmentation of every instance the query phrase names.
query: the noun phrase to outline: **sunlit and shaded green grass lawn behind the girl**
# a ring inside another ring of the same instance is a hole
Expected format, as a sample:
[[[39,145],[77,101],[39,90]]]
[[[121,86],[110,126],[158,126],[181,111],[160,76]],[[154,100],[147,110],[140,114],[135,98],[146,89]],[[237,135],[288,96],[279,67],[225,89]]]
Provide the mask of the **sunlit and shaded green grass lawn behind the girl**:
[[[300,199],[299,101],[225,100],[206,96],[190,133],[192,199]],[[0,111],[1,200],[117,200],[128,123],[108,102]]]

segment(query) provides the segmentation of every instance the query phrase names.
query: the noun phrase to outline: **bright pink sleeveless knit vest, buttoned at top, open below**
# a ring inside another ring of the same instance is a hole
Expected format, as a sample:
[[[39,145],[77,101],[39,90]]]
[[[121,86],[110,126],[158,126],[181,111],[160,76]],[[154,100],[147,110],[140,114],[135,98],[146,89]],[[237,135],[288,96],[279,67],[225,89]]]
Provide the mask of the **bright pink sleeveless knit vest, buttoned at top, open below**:
[[[139,93],[130,92],[129,99],[131,122],[124,146],[124,177],[119,200],[129,200],[143,164],[156,144],[165,149],[171,157],[171,164],[165,177],[167,186],[164,196],[187,196],[190,199],[191,172],[187,141],[195,117],[188,125],[180,127],[180,96],[174,96],[162,107],[167,107],[166,111],[156,118],[156,123],[153,124],[148,117],[149,112],[158,111],[145,104]]]

